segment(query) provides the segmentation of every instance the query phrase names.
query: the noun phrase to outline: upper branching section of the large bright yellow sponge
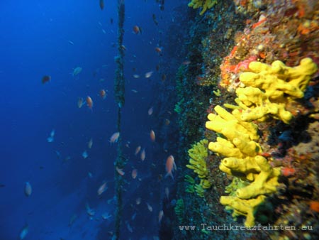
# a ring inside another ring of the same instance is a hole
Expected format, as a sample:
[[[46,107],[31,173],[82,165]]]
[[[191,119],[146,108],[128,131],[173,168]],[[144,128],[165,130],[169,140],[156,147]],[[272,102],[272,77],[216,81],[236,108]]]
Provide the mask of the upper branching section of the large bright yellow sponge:
[[[300,65],[287,67],[277,60],[272,65],[250,62],[251,72],[243,72],[240,81],[245,87],[236,90],[235,102],[242,108],[242,121],[265,121],[268,114],[288,124],[293,115],[285,106],[292,99],[303,98],[311,76],[318,67],[311,58]]]

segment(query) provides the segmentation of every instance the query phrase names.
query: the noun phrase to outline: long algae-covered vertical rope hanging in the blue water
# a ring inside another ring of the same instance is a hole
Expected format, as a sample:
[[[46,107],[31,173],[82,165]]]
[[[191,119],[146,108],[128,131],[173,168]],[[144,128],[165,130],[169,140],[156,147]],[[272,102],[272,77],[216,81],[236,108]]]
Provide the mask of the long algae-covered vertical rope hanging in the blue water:
[[[125,79],[124,79],[124,47],[123,47],[123,36],[124,36],[124,16],[125,6],[124,0],[118,0],[118,56],[116,57],[116,76],[114,80],[114,92],[115,100],[118,104],[118,121],[117,129],[120,133],[118,138],[118,156],[115,161],[115,168],[122,169],[125,166],[126,160],[123,156],[122,136],[121,136],[121,113],[122,107],[125,102]],[[117,201],[116,213],[115,213],[115,229],[113,239],[120,239],[121,233],[121,217],[123,212],[122,202],[122,188],[123,188],[123,177],[118,174],[115,169],[115,195]]]

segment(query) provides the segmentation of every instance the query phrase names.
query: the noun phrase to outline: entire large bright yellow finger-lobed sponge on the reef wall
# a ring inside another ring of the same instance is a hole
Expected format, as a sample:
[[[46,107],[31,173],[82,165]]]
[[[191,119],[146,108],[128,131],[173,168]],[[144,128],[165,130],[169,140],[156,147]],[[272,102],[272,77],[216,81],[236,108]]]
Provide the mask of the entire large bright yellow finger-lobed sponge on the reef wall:
[[[216,106],[217,114],[209,114],[206,122],[206,128],[218,135],[208,148],[225,156],[220,170],[249,182],[247,186],[238,187],[235,195],[220,197],[226,209],[233,209],[233,217],[246,217],[246,226],[254,225],[257,207],[267,195],[276,192],[280,175],[280,169],[272,168],[261,156],[262,148],[256,142],[257,125],[252,121],[264,121],[271,114],[289,123],[293,115],[286,111],[286,104],[303,97],[311,76],[318,69],[310,58],[301,60],[297,67],[274,61],[272,65],[251,62],[249,68],[251,72],[240,75],[243,85],[236,90],[238,106],[225,104],[234,109],[232,113]]]

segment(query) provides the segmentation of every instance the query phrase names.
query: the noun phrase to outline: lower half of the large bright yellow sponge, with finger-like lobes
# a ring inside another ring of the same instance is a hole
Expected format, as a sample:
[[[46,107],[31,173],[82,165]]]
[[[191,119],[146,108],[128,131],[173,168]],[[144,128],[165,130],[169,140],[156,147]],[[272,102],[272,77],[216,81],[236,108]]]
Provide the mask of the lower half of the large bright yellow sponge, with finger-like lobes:
[[[259,156],[262,148],[254,141],[257,135],[257,125],[243,121],[238,109],[232,113],[216,106],[217,114],[208,114],[210,121],[206,128],[218,133],[216,142],[211,142],[208,148],[225,156],[220,163],[220,170],[228,175],[234,175],[250,182],[249,185],[237,189],[235,196],[220,197],[220,203],[233,209],[233,217],[244,215],[246,226],[254,225],[254,212],[259,204],[273,192],[276,192],[279,168],[272,168],[267,159]]]

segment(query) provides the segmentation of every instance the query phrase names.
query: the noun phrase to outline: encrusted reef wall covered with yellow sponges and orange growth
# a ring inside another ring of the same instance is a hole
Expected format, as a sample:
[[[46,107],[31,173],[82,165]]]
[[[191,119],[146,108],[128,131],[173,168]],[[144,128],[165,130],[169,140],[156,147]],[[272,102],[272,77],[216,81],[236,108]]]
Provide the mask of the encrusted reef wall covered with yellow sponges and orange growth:
[[[174,239],[317,239],[319,4],[236,0],[203,10],[176,76],[185,168]],[[223,224],[288,229],[209,228]]]

